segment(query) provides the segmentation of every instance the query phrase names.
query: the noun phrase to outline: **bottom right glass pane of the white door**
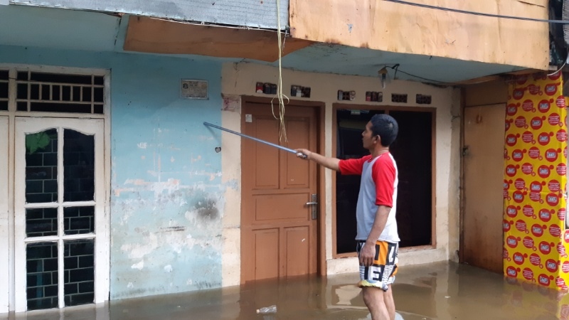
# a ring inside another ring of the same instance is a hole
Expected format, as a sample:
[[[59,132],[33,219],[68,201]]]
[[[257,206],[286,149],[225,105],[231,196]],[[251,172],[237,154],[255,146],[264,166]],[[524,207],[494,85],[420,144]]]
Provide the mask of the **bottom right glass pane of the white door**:
[[[65,306],[90,304],[95,299],[95,240],[65,241]]]

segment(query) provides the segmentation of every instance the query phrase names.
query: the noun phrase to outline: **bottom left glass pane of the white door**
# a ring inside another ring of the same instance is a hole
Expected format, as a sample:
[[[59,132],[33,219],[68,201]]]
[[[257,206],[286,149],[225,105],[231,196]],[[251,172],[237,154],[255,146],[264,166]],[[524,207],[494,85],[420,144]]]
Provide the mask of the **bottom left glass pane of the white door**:
[[[26,245],[26,299],[28,310],[58,306],[58,245],[56,242]]]

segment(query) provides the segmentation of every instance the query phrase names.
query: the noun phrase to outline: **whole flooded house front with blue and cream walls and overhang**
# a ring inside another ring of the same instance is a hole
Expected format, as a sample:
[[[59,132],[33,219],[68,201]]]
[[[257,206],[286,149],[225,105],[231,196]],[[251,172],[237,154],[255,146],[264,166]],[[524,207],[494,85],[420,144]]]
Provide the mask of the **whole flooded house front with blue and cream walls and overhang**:
[[[347,159],[393,115],[400,265],[458,261],[464,107],[501,95],[472,83],[547,70],[547,33],[389,1],[0,1],[0,313],[356,270],[357,180],[204,122]]]

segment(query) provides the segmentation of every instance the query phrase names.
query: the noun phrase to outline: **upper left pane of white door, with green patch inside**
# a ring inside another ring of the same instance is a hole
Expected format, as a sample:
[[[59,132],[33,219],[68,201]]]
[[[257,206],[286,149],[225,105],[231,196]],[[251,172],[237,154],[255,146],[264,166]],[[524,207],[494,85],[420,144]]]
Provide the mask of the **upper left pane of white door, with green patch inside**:
[[[57,129],[26,134],[26,203],[58,201]]]

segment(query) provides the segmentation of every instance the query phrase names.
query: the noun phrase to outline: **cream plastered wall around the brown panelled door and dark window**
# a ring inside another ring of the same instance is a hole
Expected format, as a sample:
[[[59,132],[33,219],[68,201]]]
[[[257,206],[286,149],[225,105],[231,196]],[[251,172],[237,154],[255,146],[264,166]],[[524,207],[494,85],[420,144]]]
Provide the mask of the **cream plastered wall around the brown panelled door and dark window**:
[[[227,98],[222,107],[222,127],[240,132],[240,100],[243,95],[272,97],[255,93],[256,82],[277,83],[278,68],[253,63],[226,63],[222,69],[222,93]],[[378,78],[350,75],[307,73],[295,70],[282,70],[283,93],[290,92],[291,85],[311,87],[310,98],[294,97],[295,100],[324,102],[325,145],[323,153],[332,156],[332,105],[337,102],[353,105],[378,105],[398,107],[422,107],[415,104],[415,95],[431,95],[436,107],[436,181],[435,215],[437,247],[428,250],[402,250],[400,265],[415,265],[442,260],[456,260],[458,250],[459,220],[459,90],[424,85],[420,82],[395,80],[385,89],[379,87]],[[338,90],[356,90],[353,101],[338,101]],[[382,91],[384,102],[366,102],[366,91]],[[390,102],[390,94],[408,94],[408,102]],[[236,101],[236,102],[235,102]],[[227,108],[229,107],[229,108]],[[234,108],[235,107],[235,108]],[[230,185],[225,191],[225,211],[223,213],[223,286],[240,283],[240,138],[233,134],[222,134],[222,175],[224,183]],[[357,272],[356,257],[334,259],[332,252],[332,174],[325,171],[326,197],[326,272],[338,274]]]

